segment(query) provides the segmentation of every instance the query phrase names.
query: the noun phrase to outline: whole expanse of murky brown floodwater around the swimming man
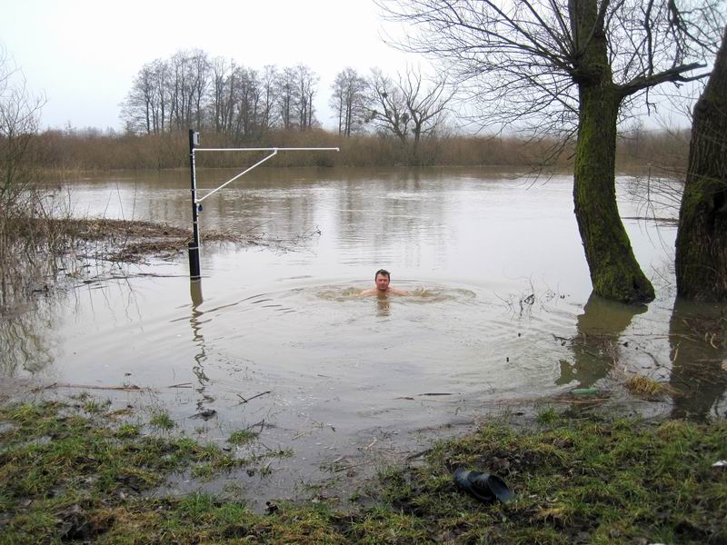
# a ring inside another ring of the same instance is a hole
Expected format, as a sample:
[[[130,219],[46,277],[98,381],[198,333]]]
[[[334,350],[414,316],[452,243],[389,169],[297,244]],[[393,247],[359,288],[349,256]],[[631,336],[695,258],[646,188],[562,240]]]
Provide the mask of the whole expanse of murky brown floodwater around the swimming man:
[[[199,185],[236,173],[200,171]],[[619,177],[622,216],[648,215],[630,184]],[[71,195],[77,215],[191,222],[184,171],[99,175]],[[38,298],[2,328],[4,378],[148,388],[89,391],[164,407],[216,441],[256,426],[293,450],[263,485],[278,496],[515,400],[591,386],[626,397],[634,374],[683,392],[642,412],[727,411],[727,356],[692,321],[707,311],[673,308],[675,227],[624,219],[657,289],[648,308],[593,297],[570,175],[260,169],[205,200],[200,222],[270,245],[205,244],[199,283],[183,254]],[[361,297],[379,268],[411,293]],[[189,418],[203,409],[217,414]]]

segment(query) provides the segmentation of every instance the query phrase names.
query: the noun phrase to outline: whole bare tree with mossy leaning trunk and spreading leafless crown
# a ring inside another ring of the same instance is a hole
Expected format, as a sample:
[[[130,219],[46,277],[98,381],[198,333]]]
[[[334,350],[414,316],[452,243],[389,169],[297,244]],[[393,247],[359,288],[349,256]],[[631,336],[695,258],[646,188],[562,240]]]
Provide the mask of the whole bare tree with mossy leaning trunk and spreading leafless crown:
[[[651,301],[616,206],[616,127],[656,85],[707,75],[699,69],[722,31],[719,0],[381,2],[419,30],[403,46],[447,63],[492,122],[575,135],[573,201],[593,290]]]

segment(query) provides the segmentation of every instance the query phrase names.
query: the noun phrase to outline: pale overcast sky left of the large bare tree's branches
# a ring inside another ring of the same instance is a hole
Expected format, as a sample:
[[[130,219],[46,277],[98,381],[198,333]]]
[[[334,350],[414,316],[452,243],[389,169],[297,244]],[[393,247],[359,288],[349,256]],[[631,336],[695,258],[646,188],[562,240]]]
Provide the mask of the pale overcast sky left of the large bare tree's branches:
[[[425,65],[383,43],[371,0],[0,0],[0,13],[0,45],[28,88],[47,96],[45,127],[120,129],[134,75],[180,49],[252,68],[308,64],[321,76],[316,110],[329,127],[330,86],[345,66]]]

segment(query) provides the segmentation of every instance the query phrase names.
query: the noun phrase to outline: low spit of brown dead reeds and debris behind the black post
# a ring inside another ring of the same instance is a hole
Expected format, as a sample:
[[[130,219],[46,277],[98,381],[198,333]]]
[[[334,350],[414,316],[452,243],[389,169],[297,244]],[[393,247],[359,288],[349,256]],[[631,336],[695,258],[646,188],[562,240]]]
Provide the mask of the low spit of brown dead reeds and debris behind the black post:
[[[128,278],[128,266],[185,259],[191,231],[166,223],[106,218],[24,218],[0,236],[0,313],[24,312],[27,302],[56,289]],[[205,230],[201,242],[234,249],[295,251],[317,229],[287,238],[255,230]],[[144,272],[154,276],[155,272]]]

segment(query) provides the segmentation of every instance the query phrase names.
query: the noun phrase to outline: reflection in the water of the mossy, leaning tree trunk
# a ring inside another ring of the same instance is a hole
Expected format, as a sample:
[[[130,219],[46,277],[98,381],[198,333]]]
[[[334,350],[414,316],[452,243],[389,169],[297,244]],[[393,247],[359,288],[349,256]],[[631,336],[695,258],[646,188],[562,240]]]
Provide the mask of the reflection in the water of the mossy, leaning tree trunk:
[[[608,376],[621,355],[619,336],[633,316],[646,310],[644,305],[612,302],[591,293],[576,321],[578,335],[572,344],[575,362],[561,360],[561,376],[555,383],[578,381],[579,388],[588,388]]]

